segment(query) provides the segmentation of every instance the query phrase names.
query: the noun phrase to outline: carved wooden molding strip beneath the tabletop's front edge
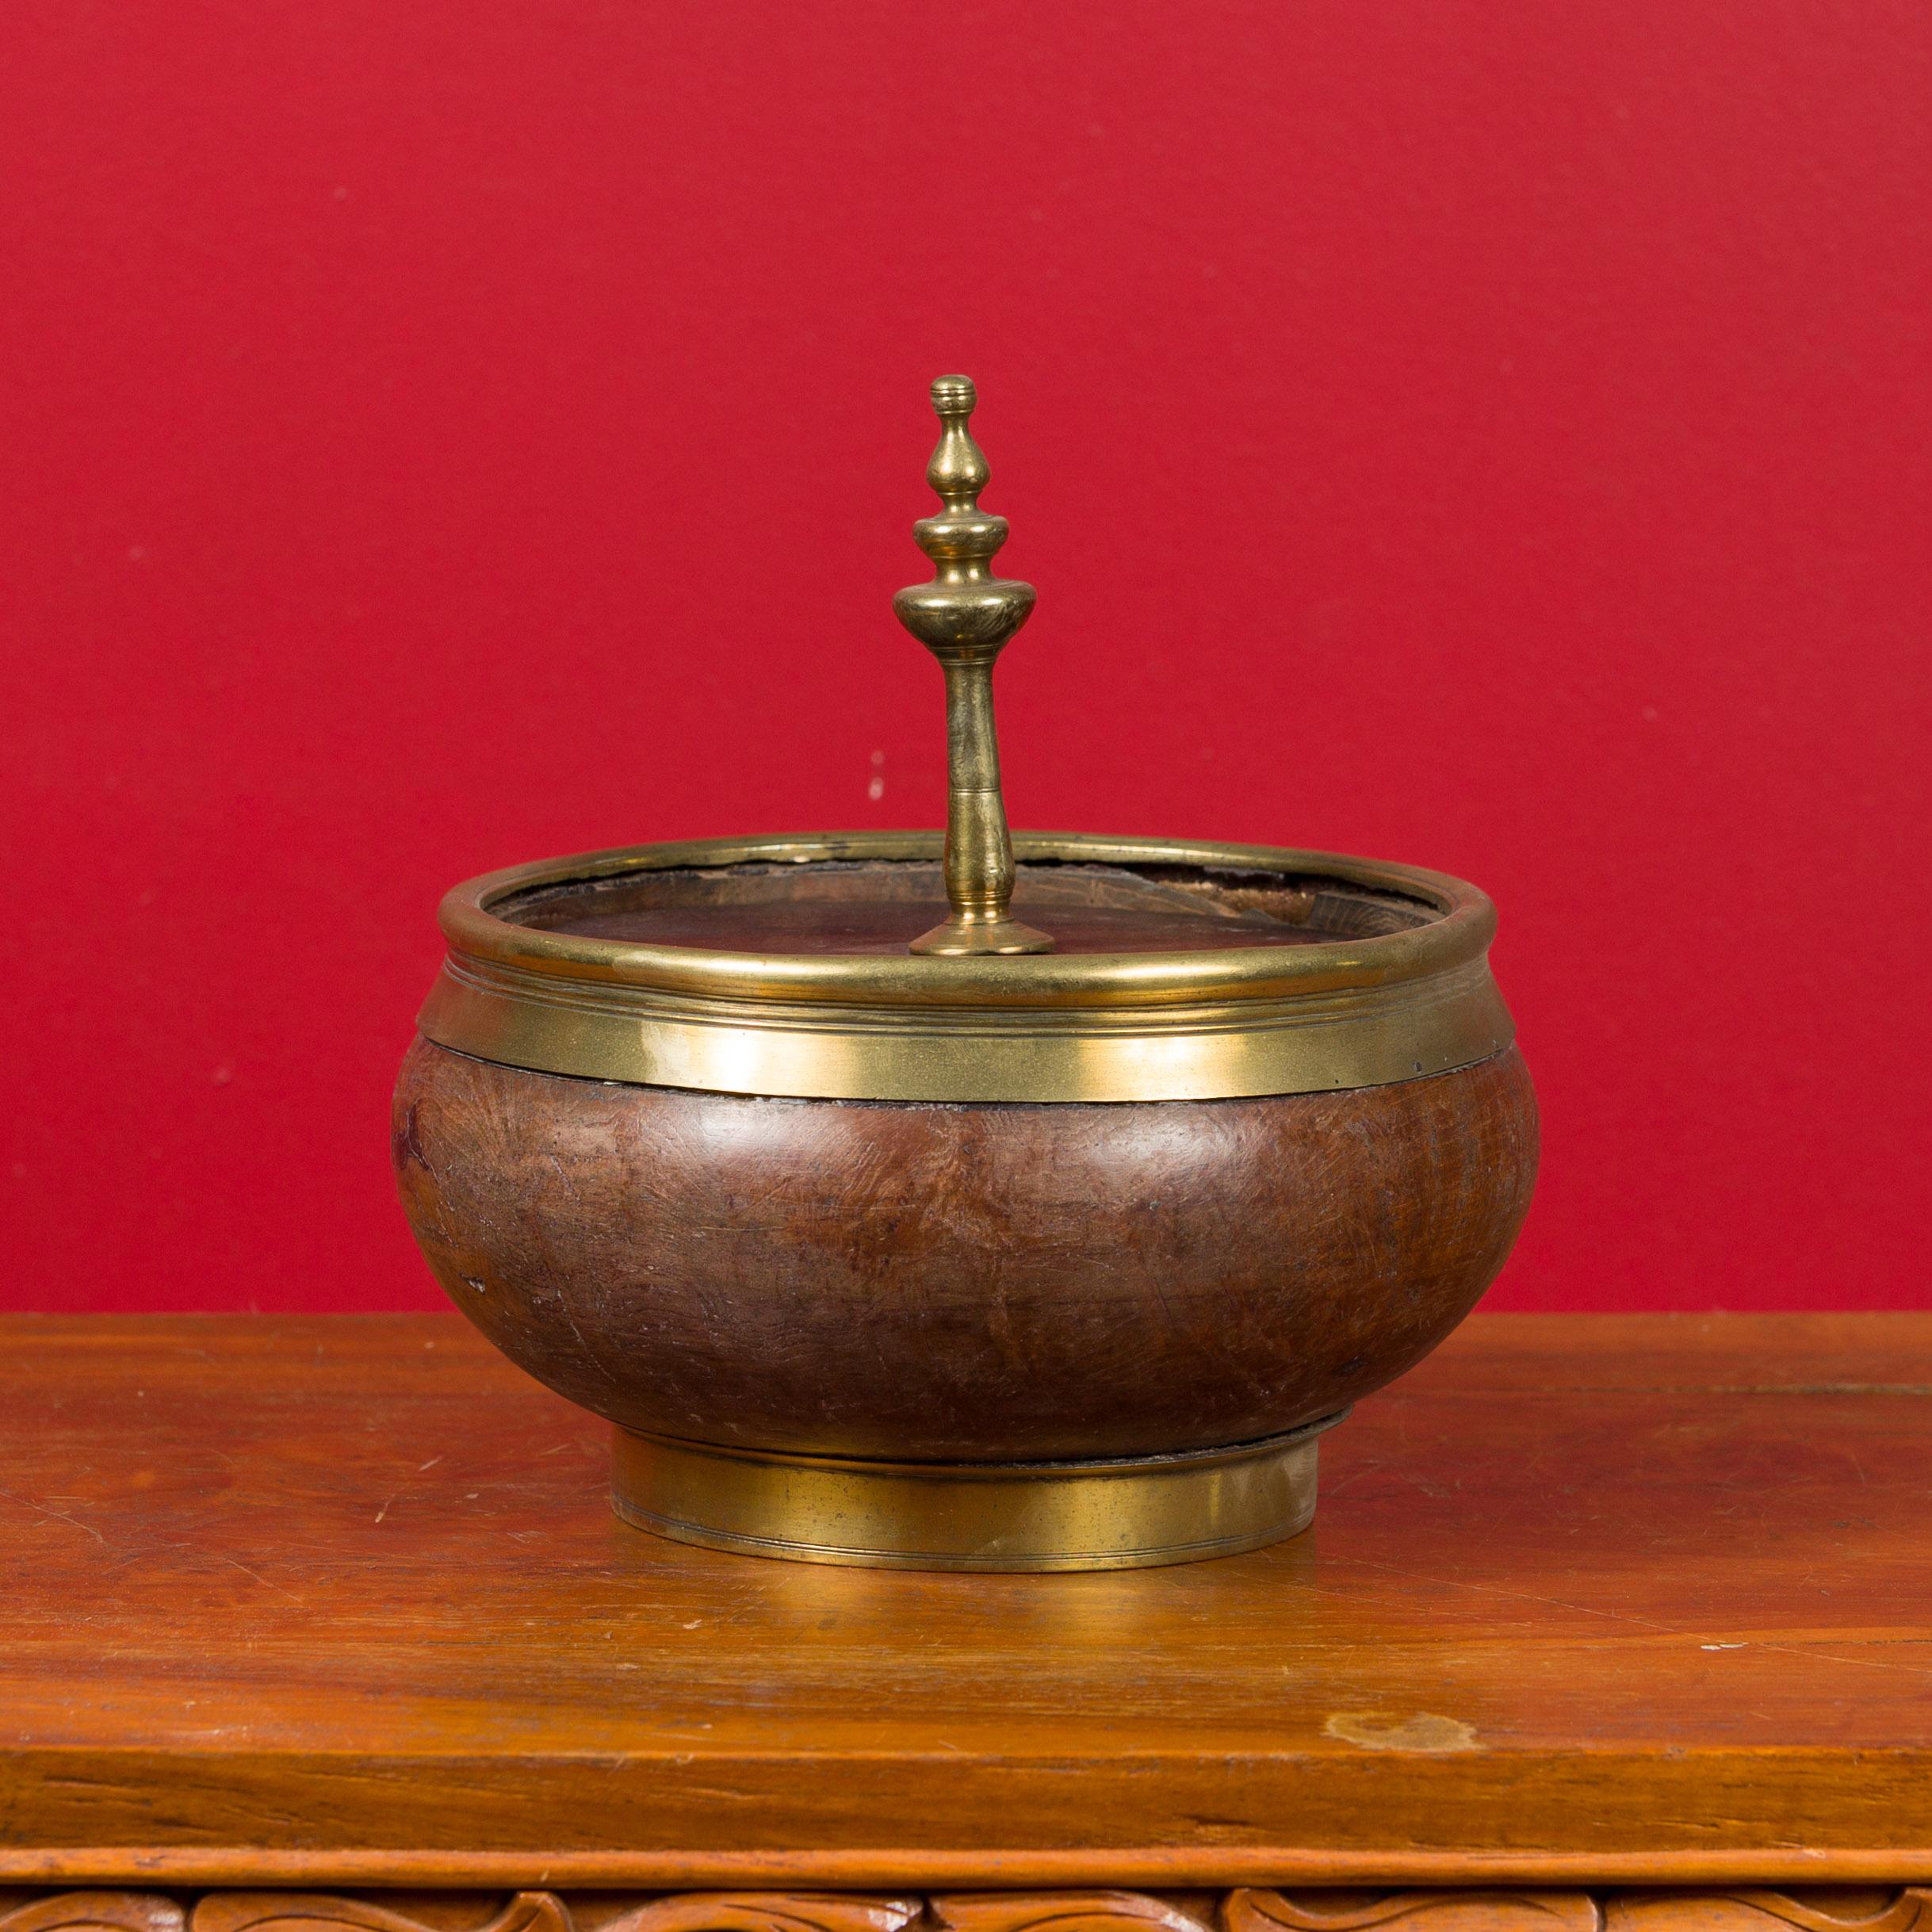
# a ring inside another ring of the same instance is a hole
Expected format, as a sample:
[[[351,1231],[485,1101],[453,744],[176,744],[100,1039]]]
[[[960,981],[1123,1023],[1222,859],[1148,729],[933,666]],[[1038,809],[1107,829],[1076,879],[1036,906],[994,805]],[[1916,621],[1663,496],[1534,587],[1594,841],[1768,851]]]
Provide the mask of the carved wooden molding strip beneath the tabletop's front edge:
[[[1932,1888],[1700,1891],[0,1893],[0,1932],[1932,1932]]]

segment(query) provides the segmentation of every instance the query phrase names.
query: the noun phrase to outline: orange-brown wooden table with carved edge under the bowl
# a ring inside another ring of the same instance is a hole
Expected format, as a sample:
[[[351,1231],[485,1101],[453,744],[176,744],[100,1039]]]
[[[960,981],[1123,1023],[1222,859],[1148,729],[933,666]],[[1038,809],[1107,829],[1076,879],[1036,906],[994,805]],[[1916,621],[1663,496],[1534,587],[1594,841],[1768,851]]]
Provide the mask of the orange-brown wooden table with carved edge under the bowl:
[[[1088,1577],[628,1530],[454,1318],[0,1345],[0,1932],[1932,1928],[1932,1318],[1476,1318]]]

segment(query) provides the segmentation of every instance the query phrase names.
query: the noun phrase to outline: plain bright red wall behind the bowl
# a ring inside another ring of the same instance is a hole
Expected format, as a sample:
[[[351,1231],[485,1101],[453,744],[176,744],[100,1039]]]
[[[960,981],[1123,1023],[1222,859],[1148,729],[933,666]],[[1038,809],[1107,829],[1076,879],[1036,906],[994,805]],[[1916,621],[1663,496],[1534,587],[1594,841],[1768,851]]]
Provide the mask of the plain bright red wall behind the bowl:
[[[14,0],[0,1296],[431,1304],[444,885],[937,823],[966,369],[1018,823],[1499,900],[1497,1304],[1926,1300],[1928,23]]]

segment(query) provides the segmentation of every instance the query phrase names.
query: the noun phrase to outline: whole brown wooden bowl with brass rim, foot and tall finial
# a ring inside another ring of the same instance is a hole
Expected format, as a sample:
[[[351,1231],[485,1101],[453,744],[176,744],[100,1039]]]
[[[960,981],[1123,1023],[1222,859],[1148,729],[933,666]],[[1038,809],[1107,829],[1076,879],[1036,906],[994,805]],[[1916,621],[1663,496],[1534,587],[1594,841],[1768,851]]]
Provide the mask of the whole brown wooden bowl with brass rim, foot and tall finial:
[[[612,1497],[918,1569],[1221,1555],[1507,1256],[1536,1105],[1474,887],[1267,846],[1009,835],[993,661],[1034,591],[964,377],[895,609],[947,833],[645,844],[456,887],[396,1088],[404,1208]]]

